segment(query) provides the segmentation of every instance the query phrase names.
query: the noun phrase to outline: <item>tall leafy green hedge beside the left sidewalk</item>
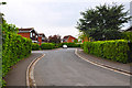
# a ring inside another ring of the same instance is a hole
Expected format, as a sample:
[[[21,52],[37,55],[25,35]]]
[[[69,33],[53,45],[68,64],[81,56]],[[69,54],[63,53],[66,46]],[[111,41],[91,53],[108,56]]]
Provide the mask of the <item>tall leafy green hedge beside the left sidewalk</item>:
[[[3,34],[2,44],[2,76],[4,77],[10,67],[22,58],[29,56],[32,50],[32,41],[15,33]]]

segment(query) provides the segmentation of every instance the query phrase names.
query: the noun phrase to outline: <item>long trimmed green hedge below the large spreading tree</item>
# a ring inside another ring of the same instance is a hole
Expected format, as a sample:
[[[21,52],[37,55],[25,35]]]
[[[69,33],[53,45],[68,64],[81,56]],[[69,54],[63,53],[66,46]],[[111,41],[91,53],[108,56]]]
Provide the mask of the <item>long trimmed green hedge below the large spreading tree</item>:
[[[130,46],[125,40],[85,42],[84,52],[121,63],[130,62]]]

